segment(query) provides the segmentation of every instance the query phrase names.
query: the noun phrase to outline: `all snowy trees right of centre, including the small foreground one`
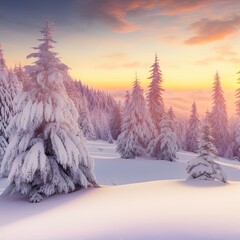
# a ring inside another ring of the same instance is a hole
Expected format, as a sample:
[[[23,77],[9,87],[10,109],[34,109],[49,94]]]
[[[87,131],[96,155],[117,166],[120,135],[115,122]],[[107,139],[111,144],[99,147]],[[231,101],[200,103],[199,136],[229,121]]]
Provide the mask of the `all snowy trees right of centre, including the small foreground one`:
[[[214,160],[217,156],[240,159],[240,121],[229,124],[219,74],[214,77],[211,112],[206,114],[203,121],[197,113],[196,102],[192,104],[188,120],[176,118],[172,107],[165,110],[162,72],[157,56],[149,79],[151,82],[146,100],[137,78],[132,93],[126,94],[117,152],[122,158],[150,156],[169,161],[176,159],[179,149],[199,153],[187,169],[190,176],[226,182],[224,173]],[[240,83],[240,78],[238,81]],[[237,115],[240,116],[240,88],[236,98]],[[205,166],[206,171],[201,165]]]

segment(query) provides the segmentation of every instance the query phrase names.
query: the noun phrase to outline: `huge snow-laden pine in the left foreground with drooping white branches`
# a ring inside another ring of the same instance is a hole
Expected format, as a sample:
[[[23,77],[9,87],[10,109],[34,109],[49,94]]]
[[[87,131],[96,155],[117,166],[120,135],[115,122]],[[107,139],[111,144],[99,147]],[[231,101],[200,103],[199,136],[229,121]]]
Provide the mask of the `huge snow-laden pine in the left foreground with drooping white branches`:
[[[42,28],[35,65],[28,66],[33,88],[20,95],[8,131],[1,175],[8,174],[6,194],[20,193],[31,202],[77,187],[97,186],[93,161],[77,124],[77,110],[63,85],[68,67],[51,51],[52,24]]]

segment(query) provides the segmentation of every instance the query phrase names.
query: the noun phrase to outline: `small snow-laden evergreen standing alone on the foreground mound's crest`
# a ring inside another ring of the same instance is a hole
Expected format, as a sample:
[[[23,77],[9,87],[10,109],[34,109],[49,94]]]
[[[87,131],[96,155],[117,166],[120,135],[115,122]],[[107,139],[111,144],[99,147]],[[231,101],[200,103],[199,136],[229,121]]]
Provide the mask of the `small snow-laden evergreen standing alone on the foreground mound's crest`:
[[[217,149],[213,144],[212,129],[210,124],[210,115],[207,112],[202,127],[202,136],[200,141],[199,156],[188,162],[187,173],[189,179],[199,180],[219,180],[226,182],[226,176],[221,166],[216,163]]]

